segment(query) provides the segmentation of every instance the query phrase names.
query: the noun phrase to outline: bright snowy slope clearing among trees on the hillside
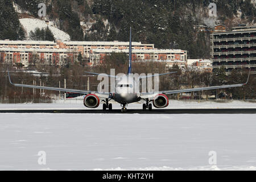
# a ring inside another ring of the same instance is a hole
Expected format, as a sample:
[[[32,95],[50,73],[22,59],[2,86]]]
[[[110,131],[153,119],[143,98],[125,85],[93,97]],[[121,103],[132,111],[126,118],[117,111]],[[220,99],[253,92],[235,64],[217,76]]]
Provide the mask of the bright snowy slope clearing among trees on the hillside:
[[[48,25],[44,20],[33,19],[33,18],[22,18],[19,19],[20,23],[23,25],[25,30],[27,31],[27,35],[29,35],[30,31],[34,31],[35,28],[46,28],[47,26],[52,31],[56,40],[70,40],[70,36],[64,31],[59,30],[56,27]]]

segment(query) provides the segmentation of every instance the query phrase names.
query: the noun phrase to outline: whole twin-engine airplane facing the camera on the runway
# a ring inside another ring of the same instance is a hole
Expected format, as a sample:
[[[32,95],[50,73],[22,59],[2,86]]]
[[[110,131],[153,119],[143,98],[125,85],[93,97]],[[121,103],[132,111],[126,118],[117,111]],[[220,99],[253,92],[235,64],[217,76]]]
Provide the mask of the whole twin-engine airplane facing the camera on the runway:
[[[146,101],[145,104],[143,104],[142,109],[145,110],[152,110],[152,105],[155,108],[164,108],[169,105],[169,100],[166,95],[168,94],[176,94],[176,93],[186,93],[186,92],[196,92],[196,91],[201,91],[201,90],[213,90],[213,89],[223,89],[223,88],[234,88],[234,87],[239,87],[246,85],[250,72],[247,78],[247,81],[245,84],[233,84],[233,85],[221,85],[221,86],[208,86],[208,87],[203,87],[203,88],[192,88],[192,89],[179,89],[179,90],[165,90],[165,91],[160,91],[157,93],[140,93],[139,92],[139,85],[137,82],[134,80],[134,76],[132,74],[132,59],[131,59],[131,28],[130,28],[130,43],[129,43],[129,67],[127,74],[124,75],[121,79],[115,80],[115,92],[110,93],[110,92],[96,92],[96,91],[88,91],[88,90],[77,90],[77,89],[65,89],[65,88],[55,88],[55,87],[48,87],[48,86],[37,86],[37,85],[26,85],[26,84],[14,84],[11,82],[10,78],[10,73],[8,71],[9,75],[9,81],[11,85],[14,86],[20,86],[20,87],[26,87],[26,88],[35,88],[35,89],[46,89],[46,90],[56,90],[60,92],[71,92],[71,93],[78,93],[78,94],[84,94],[86,95],[84,97],[84,106],[89,107],[89,108],[96,108],[100,105],[100,98],[102,98],[102,101],[105,102],[102,105],[102,109],[106,110],[108,109],[109,111],[112,110],[112,104],[109,103],[110,100],[114,100],[121,104],[122,106],[122,113],[125,113],[127,111],[126,106],[128,104],[134,103],[134,102],[139,102],[141,100]],[[99,73],[92,73],[92,72],[86,72],[86,73],[91,73],[93,75],[102,75]],[[162,75],[168,75],[176,72],[170,72],[170,73],[162,73],[159,74],[159,76]],[[118,78],[117,76],[112,76],[112,75],[106,75],[108,77],[114,77]],[[132,76],[132,78],[131,78]],[[143,78],[148,78],[148,77],[154,77],[155,75],[151,76],[141,76],[139,79]],[[133,89],[135,92],[130,92],[130,89]],[[152,102],[152,104],[151,104]]]

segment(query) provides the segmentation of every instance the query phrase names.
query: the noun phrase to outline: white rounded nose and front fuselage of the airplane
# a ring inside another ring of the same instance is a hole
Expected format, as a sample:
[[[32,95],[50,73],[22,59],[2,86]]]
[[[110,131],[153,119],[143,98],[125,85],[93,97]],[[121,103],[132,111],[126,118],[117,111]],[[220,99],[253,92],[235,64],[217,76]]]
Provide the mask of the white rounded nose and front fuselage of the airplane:
[[[120,104],[137,102],[139,98],[139,85],[133,76],[123,76],[115,81],[114,101]]]

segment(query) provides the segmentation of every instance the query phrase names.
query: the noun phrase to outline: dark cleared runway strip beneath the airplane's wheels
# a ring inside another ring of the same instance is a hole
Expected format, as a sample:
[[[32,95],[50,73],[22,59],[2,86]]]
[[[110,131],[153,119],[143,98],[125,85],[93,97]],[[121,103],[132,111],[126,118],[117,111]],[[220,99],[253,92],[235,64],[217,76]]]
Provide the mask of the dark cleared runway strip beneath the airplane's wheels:
[[[28,109],[28,110],[0,110],[0,113],[72,113],[72,114],[121,114],[121,109],[112,111],[100,109]],[[256,109],[128,109],[125,114],[256,114]]]

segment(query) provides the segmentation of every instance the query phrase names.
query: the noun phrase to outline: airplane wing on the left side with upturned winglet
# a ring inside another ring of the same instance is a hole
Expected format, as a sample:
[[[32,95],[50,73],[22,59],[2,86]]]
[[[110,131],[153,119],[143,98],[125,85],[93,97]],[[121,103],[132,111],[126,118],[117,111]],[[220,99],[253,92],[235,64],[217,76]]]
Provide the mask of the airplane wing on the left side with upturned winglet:
[[[109,98],[110,97],[110,93],[98,93],[98,92],[95,92],[95,91],[88,91],[88,90],[65,89],[65,88],[57,88],[57,87],[49,87],[49,86],[26,85],[26,84],[14,84],[11,81],[9,71],[8,71],[8,76],[9,76],[10,84],[14,85],[14,86],[20,86],[20,87],[26,87],[26,88],[34,88],[34,89],[55,90],[55,91],[60,91],[60,92],[81,93],[81,94],[93,93],[93,94],[96,94],[98,97],[101,97],[101,98]]]

